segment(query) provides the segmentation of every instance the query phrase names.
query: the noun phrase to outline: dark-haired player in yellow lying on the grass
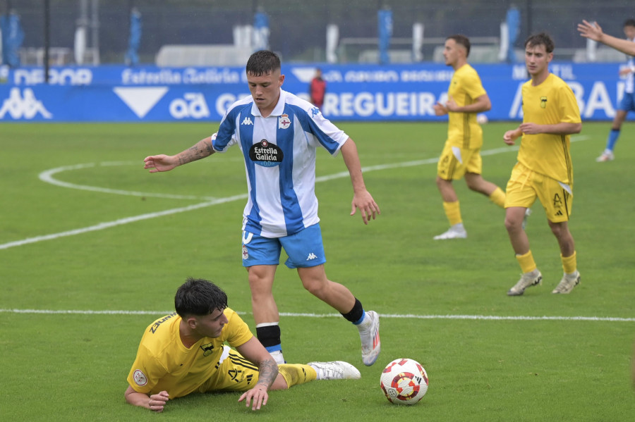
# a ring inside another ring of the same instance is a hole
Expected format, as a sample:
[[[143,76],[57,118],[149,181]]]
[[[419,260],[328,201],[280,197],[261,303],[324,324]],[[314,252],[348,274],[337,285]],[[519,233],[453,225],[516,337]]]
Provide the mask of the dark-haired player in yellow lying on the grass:
[[[128,375],[125,397],[130,404],[161,412],[169,399],[192,392],[241,391],[238,402],[258,410],[267,404],[268,390],[315,379],[360,378],[343,361],[277,366],[227,307],[225,292],[207,280],[188,278],[174,305],[176,312],[150,324],[141,338]]]

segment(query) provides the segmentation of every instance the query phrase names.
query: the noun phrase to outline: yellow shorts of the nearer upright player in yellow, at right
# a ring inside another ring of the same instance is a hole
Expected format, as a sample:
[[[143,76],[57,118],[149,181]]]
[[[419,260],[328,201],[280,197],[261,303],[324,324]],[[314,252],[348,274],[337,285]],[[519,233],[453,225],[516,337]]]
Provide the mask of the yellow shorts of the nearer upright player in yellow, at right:
[[[505,208],[529,208],[536,201],[543,204],[547,219],[552,223],[569,221],[573,205],[573,186],[565,185],[516,163],[505,189]]]

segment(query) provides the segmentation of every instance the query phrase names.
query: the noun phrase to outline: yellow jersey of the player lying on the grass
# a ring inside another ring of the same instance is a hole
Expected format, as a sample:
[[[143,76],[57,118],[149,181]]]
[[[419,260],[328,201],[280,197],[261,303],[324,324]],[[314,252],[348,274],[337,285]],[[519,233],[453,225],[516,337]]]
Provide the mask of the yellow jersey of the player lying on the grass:
[[[167,391],[170,398],[198,391],[217,371],[223,345],[238,347],[253,334],[243,319],[229,308],[229,320],[217,338],[203,337],[187,348],[181,341],[181,317],[173,312],[150,324],[139,345],[128,383],[136,392],[156,394]]]

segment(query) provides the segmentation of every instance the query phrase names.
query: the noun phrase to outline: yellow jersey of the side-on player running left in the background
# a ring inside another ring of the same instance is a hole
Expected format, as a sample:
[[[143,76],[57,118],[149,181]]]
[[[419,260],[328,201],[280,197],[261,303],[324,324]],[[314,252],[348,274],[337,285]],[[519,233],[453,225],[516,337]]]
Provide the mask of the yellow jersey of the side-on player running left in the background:
[[[473,104],[487,92],[476,70],[467,63],[456,69],[450,80],[447,96],[457,106]],[[476,113],[448,112],[447,142],[454,147],[476,149],[483,146],[483,130],[476,123]]]

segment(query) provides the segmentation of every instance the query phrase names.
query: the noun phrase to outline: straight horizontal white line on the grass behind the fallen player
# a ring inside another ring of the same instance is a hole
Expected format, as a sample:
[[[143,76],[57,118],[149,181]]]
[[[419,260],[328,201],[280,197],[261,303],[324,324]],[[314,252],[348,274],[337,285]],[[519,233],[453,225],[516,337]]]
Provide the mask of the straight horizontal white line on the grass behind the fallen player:
[[[91,311],[91,310],[55,310],[55,309],[0,309],[7,314],[81,314],[81,315],[167,315],[174,311]],[[250,312],[237,311],[236,314],[248,315]],[[281,312],[280,316],[301,318],[341,318],[340,314],[296,314]],[[380,314],[382,318],[397,319],[458,319],[485,321],[596,321],[634,323],[635,318],[616,318],[610,316],[495,316],[495,315],[414,315],[414,314]]]

